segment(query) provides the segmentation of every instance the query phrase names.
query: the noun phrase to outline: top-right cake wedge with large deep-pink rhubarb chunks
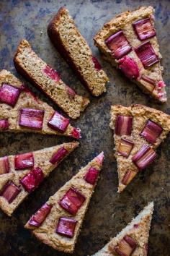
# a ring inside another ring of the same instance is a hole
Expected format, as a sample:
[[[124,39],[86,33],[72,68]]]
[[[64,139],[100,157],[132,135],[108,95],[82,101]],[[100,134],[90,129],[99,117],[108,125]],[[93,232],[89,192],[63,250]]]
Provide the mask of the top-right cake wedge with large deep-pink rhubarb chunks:
[[[106,61],[121,69],[145,93],[164,103],[166,85],[153,14],[153,7],[118,14],[95,35],[94,45]]]

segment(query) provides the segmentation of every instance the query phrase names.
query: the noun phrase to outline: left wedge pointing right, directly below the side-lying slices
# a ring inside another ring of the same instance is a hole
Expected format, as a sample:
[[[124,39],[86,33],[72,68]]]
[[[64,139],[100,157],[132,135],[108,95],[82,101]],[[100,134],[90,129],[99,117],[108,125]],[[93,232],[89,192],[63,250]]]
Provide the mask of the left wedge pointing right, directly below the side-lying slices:
[[[7,70],[0,72],[0,132],[38,132],[79,139],[80,129]]]

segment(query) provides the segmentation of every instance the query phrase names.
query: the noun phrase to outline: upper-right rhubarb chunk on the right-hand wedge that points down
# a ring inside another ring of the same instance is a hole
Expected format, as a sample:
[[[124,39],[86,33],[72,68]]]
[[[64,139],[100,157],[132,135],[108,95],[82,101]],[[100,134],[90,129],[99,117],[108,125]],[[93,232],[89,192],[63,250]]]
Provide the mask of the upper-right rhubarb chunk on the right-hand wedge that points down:
[[[163,131],[162,127],[154,121],[148,120],[146,127],[141,132],[141,135],[151,144],[154,144]]]

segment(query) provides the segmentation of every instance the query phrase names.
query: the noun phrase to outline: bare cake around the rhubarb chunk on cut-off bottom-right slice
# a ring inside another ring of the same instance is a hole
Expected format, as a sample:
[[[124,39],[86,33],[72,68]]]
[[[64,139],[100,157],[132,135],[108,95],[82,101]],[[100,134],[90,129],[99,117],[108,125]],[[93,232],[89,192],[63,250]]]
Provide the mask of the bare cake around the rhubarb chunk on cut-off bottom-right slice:
[[[149,203],[122,231],[111,239],[95,256],[117,255],[115,247],[125,235],[132,237],[137,242],[137,247],[132,256],[147,256],[148,237],[153,214],[153,202]]]

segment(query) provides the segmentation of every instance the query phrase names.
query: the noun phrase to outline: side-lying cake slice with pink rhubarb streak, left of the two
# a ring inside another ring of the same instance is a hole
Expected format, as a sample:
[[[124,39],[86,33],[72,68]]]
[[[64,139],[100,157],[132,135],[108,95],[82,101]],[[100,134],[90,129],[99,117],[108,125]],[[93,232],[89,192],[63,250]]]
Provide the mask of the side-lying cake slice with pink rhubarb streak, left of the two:
[[[78,118],[81,111],[84,111],[89,104],[88,98],[78,95],[68,88],[61,80],[60,75],[35,54],[27,40],[22,40],[19,43],[14,56],[14,65],[19,73],[48,95],[71,118]],[[47,68],[48,72],[52,72],[50,77],[45,73]]]

